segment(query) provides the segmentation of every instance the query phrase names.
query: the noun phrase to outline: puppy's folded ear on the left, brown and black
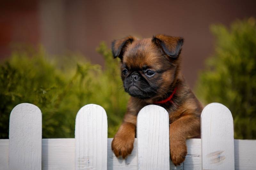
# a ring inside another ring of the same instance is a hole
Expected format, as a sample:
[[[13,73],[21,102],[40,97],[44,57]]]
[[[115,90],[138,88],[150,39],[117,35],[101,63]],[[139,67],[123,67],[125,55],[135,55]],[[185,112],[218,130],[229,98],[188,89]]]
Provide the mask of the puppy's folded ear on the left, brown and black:
[[[114,40],[112,42],[112,53],[113,53],[114,58],[119,57],[121,60],[123,60],[125,47],[128,44],[132,44],[132,41],[134,41],[134,40],[135,40],[135,38],[132,36]]]

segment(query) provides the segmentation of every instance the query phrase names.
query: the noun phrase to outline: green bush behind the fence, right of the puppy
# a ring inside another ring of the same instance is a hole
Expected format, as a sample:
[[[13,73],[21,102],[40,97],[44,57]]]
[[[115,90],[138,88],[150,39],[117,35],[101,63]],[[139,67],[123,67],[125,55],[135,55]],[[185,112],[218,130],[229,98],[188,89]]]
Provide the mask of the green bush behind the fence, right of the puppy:
[[[211,27],[215,53],[200,73],[196,93],[204,103],[226,105],[234,118],[235,138],[256,139],[256,21]]]

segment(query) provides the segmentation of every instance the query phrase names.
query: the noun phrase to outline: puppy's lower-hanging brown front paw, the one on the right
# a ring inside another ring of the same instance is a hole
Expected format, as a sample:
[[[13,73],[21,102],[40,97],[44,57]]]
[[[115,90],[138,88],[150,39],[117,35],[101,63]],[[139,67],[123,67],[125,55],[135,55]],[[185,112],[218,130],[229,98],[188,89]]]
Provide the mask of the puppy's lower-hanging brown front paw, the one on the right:
[[[170,156],[171,156],[172,163],[175,166],[180,165],[185,160],[186,155],[187,155],[186,142],[170,141]]]

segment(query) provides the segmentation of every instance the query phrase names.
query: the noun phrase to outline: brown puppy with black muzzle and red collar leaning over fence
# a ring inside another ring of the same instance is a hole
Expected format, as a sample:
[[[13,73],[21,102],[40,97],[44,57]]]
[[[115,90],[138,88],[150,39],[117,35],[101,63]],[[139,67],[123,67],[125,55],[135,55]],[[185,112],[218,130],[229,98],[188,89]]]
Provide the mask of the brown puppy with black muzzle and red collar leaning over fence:
[[[112,43],[114,58],[122,62],[124,90],[131,95],[123,124],[112,141],[116,157],[125,158],[132,152],[138,112],[149,104],[169,113],[170,156],[175,166],[187,155],[186,139],[200,136],[203,107],[180,73],[182,45],[183,38],[166,35],[141,40],[130,36]]]

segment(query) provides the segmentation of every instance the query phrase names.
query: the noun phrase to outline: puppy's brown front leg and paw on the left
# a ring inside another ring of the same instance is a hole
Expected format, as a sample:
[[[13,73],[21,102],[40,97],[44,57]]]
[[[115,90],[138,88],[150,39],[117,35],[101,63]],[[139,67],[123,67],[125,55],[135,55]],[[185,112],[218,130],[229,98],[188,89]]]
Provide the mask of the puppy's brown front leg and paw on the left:
[[[112,151],[116,157],[125,158],[132,153],[134,138],[136,135],[137,116],[126,114],[123,124],[119,127],[113,141]]]

